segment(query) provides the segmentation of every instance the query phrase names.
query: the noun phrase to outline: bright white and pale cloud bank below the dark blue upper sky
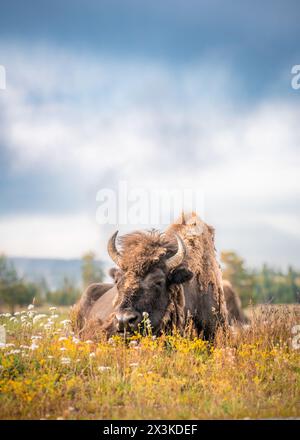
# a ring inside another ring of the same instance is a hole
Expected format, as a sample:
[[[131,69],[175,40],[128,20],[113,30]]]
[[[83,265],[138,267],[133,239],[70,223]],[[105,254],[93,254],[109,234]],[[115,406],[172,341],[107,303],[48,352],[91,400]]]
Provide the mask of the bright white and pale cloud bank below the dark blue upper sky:
[[[146,189],[194,188],[204,194],[200,214],[216,226],[219,249],[252,264],[299,264],[300,110],[293,101],[265,96],[245,105],[235,98],[236,71],[211,60],[174,71],[51,47],[5,51],[5,252],[75,257],[92,248],[105,257],[114,228],[97,226],[96,193],[125,179]]]

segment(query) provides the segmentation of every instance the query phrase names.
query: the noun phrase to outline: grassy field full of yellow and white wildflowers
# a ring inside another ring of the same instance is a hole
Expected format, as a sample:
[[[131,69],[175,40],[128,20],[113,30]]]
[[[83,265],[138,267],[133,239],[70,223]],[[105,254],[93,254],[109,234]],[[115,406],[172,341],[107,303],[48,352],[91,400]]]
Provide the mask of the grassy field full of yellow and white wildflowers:
[[[299,307],[250,315],[213,345],[176,334],[82,342],[57,310],[2,315],[0,418],[300,417]]]

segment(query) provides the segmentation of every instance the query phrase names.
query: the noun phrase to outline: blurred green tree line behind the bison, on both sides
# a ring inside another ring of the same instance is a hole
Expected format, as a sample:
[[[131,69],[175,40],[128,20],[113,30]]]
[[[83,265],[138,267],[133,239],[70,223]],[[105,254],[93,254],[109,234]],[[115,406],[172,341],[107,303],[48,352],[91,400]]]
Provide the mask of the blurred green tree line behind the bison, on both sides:
[[[296,303],[300,302],[300,271],[289,267],[286,271],[274,269],[264,264],[260,269],[249,269],[244,260],[233,251],[221,253],[223,278],[229,280],[236,289],[244,307],[257,303]],[[82,257],[82,287],[102,282],[102,265],[95,260],[93,252]],[[69,306],[79,298],[82,289],[65,278],[62,286],[50,290],[44,280],[32,283],[20,277],[13,264],[0,255],[0,311],[8,308],[14,312],[16,306],[25,306],[33,301]]]

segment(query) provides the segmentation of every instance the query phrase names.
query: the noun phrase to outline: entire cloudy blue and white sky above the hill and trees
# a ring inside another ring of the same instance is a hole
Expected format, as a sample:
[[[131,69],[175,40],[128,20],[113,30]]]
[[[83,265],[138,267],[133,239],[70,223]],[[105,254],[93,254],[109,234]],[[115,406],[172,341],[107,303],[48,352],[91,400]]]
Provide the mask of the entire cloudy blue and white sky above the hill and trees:
[[[125,181],[193,189],[218,251],[300,267],[299,2],[0,9],[0,252],[107,260],[116,229],[153,226],[97,222]]]

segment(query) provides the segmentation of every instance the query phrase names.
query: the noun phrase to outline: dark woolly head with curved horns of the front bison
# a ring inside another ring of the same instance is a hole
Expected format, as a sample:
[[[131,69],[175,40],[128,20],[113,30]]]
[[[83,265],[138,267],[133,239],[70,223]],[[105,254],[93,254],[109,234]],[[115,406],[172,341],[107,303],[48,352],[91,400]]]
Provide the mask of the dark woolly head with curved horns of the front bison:
[[[192,272],[185,267],[185,246],[175,235],[171,240],[156,231],[135,232],[120,239],[116,232],[108,253],[118,269],[111,272],[118,290],[115,299],[114,331],[135,331],[146,312],[153,333],[177,325],[183,319],[184,295],[181,284]]]

